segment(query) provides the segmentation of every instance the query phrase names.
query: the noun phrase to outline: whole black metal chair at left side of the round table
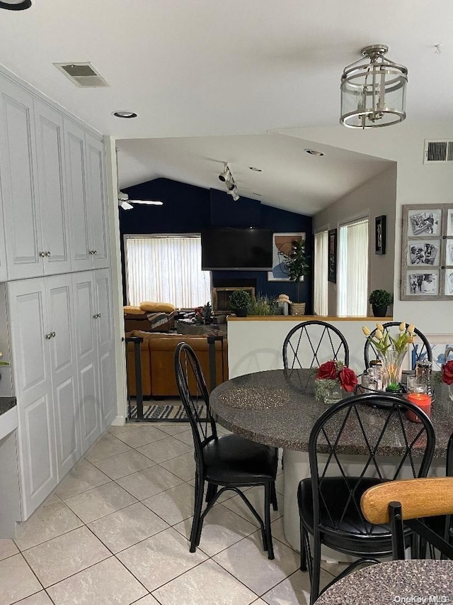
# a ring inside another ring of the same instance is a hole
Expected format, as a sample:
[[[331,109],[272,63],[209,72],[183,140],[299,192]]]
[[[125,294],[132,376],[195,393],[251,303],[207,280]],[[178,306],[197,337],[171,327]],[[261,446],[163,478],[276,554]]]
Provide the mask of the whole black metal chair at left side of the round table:
[[[192,428],[195,446],[195,505],[190,531],[190,553],[195,553],[200,544],[205,516],[220,494],[232,490],[239,494],[260,524],[263,548],[268,551],[268,558],[273,559],[270,504],[276,511],[277,448],[255,443],[239,435],[218,436],[216,423],[210,412],[205,377],[193,349],[188,344],[180,343],[176,347],[174,365],[176,384]],[[205,482],[207,506],[202,512]],[[264,521],[239,489],[254,486],[264,487]],[[221,489],[218,490],[219,487]]]

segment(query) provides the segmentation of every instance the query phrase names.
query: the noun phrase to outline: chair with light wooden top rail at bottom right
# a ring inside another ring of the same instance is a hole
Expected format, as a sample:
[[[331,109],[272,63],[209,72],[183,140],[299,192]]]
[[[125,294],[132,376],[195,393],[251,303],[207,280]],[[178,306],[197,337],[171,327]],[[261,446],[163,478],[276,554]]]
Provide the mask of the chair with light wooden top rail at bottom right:
[[[442,558],[453,559],[453,546],[448,535],[432,530],[430,519],[445,519],[453,514],[453,477],[430,477],[391,481],[367,489],[360,502],[370,523],[390,523],[394,560],[404,560],[408,527],[423,545],[440,551]],[[426,550],[426,549],[424,549]]]

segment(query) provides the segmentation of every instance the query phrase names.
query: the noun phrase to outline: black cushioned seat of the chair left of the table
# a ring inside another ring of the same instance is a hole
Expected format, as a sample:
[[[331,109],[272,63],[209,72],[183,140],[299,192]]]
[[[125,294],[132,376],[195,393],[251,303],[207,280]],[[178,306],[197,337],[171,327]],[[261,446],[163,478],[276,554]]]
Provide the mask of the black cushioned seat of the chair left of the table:
[[[239,435],[222,435],[203,448],[205,478],[221,485],[258,485],[273,482],[277,450]]]

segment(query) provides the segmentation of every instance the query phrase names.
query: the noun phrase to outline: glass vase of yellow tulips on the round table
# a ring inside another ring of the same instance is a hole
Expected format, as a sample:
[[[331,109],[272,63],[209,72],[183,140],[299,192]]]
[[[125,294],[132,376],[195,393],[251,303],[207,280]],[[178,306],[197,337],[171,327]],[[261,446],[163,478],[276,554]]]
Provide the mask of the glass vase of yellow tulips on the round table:
[[[415,338],[413,323],[406,325],[401,321],[398,326],[398,335],[392,336],[381,323],[376,324],[376,331],[372,333],[367,326],[362,331],[373,345],[379,360],[382,362],[382,387],[386,391],[398,392],[401,390],[401,371],[404,357],[408,352],[408,345]]]

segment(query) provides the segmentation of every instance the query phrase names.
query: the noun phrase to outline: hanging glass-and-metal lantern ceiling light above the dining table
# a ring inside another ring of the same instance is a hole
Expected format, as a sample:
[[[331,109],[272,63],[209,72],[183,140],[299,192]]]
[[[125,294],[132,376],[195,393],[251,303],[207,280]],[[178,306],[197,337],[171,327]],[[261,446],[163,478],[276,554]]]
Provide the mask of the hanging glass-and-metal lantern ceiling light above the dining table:
[[[348,128],[380,128],[406,118],[408,70],[384,55],[385,44],[366,46],[363,59],[345,67],[341,77],[340,123]],[[357,65],[360,64],[360,65]]]

